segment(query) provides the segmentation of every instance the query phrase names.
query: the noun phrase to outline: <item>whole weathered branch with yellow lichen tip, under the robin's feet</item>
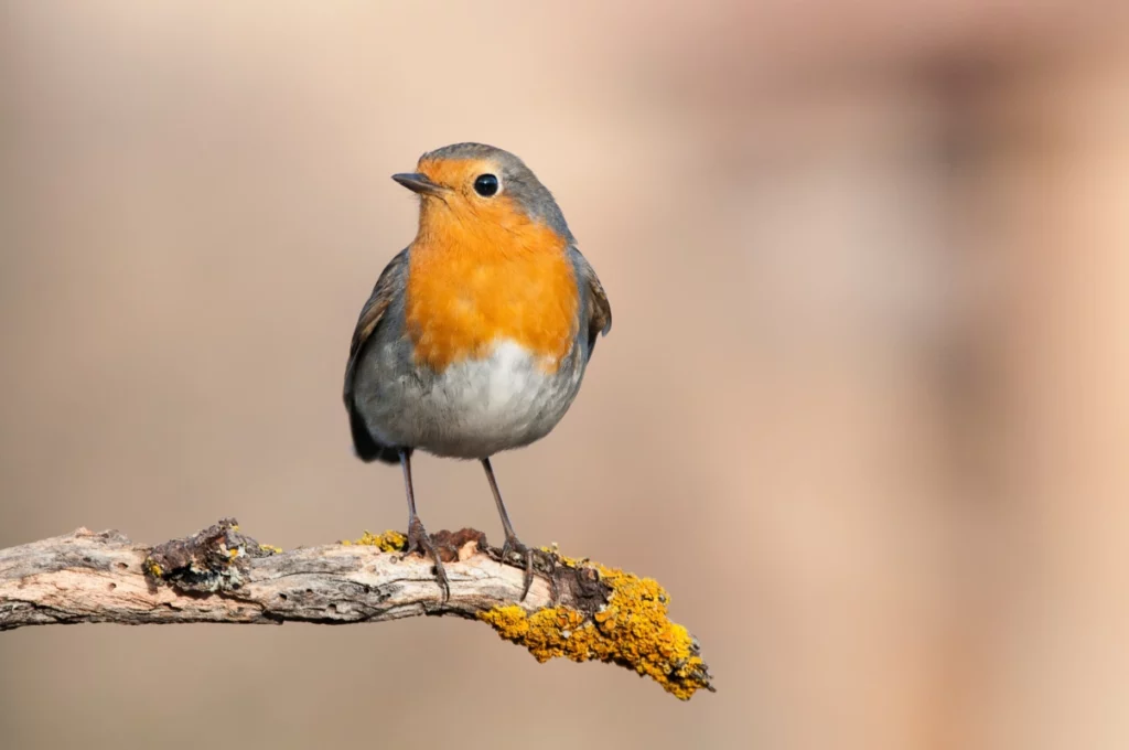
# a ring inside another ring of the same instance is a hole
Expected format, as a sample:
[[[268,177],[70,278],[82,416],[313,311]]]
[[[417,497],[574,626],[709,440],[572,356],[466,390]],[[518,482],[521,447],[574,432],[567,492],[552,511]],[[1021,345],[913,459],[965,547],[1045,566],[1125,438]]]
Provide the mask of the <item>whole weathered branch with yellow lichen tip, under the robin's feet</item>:
[[[397,553],[397,532],[282,552],[240,533],[234,520],[157,547],[79,529],[0,550],[0,630],[452,614],[490,623],[539,661],[618,663],[682,699],[714,689],[697,640],[666,618],[666,592],[654,581],[552,552],[519,601],[524,570],[502,562],[484,534],[464,529],[432,539],[450,578],[447,601],[428,560]]]

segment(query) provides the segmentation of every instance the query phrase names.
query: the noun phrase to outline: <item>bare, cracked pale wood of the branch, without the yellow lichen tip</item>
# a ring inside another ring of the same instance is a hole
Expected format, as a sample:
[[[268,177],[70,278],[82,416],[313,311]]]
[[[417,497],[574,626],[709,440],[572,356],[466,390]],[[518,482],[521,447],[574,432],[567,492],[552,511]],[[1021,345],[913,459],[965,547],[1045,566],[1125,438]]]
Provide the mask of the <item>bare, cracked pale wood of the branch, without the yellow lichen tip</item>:
[[[448,564],[450,599],[443,602],[431,564],[414,555],[359,544],[273,553],[238,534],[234,524],[201,534],[217,530],[225,539],[210,551],[227,559],[205,559],[208,548],[189,550],[187,557],[195,552],[200,559],[176,560],[185,564],[181,570],[165,562],[168,548],[178,544],[185,553],[185,543],[195,538],[151,548],[114,531],[79,529],[0,550],[0,630],[78,622],[332,625],[418,614],[473,618],[522,595],[522,570],[479,550],[474,539],[455,549],[457,561]],[[168,569],[155,575],[155,562]],[[577,604],[568,601],[569,591],[563,594],[562,603]],[[549,584],[537,576],[522,607],[535,611],[550,603]]]

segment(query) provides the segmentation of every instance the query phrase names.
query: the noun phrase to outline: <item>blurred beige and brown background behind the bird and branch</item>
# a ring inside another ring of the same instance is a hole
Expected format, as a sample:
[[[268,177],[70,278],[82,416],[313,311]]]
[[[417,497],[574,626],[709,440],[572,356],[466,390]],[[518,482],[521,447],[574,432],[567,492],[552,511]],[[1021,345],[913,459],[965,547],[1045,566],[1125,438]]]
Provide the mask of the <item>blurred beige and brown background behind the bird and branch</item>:
[[[1124,7],[808,5],[2,3],[0,547],[402,527],[342,368],[388,175],[481,140],[615,314],[515,523],[664,583],[719,688],[446,620],[26,629],[3,747],[1126,747]],[[417,486],[500,535],[475,465]]]

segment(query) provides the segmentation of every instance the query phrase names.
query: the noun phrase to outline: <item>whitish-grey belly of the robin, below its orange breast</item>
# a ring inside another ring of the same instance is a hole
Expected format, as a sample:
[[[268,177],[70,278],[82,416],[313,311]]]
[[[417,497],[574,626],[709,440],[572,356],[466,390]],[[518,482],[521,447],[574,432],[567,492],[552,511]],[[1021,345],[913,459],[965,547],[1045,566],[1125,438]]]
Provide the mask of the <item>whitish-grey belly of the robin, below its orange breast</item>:
[[[441,456],[481,459],[528,445],[557,426],[584,374],[577,356],[555,373],[509,340],[489,357],[450,365],[427,377],[401,376],[399,408],[385,399],[375,435]],[[387,395],[387,393],[386,393]]]

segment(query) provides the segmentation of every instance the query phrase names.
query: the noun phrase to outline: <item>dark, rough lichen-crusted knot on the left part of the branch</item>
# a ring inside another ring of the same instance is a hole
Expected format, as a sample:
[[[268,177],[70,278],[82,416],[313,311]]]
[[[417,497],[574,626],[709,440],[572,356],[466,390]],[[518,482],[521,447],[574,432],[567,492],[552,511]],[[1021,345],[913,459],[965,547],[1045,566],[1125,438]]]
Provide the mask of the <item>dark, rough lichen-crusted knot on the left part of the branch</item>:
[[[192,537],[158,544],[143,567],[150,579],[178,591],[212,593],[238,588],[250,560],[273,553],[269,546],[240,533],[235,518],[222,518]]]

